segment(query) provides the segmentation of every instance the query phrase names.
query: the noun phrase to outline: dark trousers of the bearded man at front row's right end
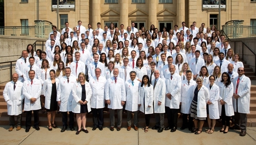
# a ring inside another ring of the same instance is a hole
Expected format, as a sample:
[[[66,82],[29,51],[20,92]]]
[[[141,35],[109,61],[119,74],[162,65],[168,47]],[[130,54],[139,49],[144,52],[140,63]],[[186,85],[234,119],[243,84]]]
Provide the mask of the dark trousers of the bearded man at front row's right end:
[[[241,131],[246,131],[246,126],[247,126],[247,114],[246,113],[238,113],[238,112],[234,112],[235,113],[235,122],[234,124],[236,126],[240,126],[241,127]]]

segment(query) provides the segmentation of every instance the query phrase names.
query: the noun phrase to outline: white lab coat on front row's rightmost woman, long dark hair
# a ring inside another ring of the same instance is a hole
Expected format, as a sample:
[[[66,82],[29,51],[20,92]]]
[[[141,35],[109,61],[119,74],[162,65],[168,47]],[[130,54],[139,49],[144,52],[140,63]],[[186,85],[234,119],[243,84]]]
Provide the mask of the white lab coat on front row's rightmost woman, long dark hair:
[[[219,101],[223,100],[224,102],[226,102],[224,104],[226,116],[233,116],[234,115],[234,108],[232,103],[232,96],[234,92],[233,83],[231,83],[230,85],[228,85],[228,87],[226,87],[225,84],[223,84],[223,82],[219,82],[218,86],[220,88]],[[221,109],[222,109],[222,105],[219,105],[220,116],[221,116]]]

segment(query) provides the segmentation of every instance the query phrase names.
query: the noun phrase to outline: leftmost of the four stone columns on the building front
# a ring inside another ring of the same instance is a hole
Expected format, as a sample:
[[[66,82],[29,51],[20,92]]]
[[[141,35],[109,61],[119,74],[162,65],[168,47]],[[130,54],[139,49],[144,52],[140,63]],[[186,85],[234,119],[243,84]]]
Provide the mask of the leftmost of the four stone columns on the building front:
[[[92,29],[97,28],[97,23],[101,22],[101,1],[93,0],[92,2]]]

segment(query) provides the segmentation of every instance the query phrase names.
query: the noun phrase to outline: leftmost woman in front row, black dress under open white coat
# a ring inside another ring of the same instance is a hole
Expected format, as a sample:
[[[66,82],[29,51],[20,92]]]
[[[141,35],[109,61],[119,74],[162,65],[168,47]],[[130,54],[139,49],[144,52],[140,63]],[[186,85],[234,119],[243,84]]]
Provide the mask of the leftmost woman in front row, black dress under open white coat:
[[[45,108],[47,109],[48,118],[48,130],[52,131],[53,128],[57,128],[55,125],[55,112],[57,110],[58,103],[56,101],[57,88],[59,79],[55,78],[55,70],[50,71],[50,78],[46,79],[43,83],[43,96],[45,96]],[[51,123],[51,118],[53,121]],[[53,128],[52,128],[53,127]]]

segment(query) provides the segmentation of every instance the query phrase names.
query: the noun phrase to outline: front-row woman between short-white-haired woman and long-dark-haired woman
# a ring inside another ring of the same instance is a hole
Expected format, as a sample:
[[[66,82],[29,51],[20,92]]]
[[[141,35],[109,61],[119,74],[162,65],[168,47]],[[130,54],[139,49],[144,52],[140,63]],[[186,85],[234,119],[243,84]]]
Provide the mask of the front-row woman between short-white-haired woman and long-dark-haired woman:
[[[214,132],[214,127],[216,124],[216,119],[220,118],[219,110],[218,110],[218,99],[220,97],[219,87],[214,84],[215,78],[213,75],[209,77],[210,84],[207,84],[206,87],[209,89],[210,99],[206,105],[207,111],[207,122],[209,128],[205,131],[208,134],[212,134]]]

